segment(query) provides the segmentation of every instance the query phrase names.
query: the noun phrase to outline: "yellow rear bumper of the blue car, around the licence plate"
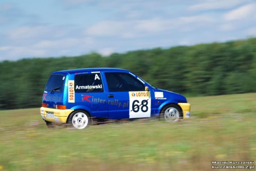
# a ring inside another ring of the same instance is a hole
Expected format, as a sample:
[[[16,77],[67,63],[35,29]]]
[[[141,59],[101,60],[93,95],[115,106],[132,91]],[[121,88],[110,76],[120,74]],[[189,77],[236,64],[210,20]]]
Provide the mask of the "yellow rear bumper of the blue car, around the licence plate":
[[[69,114],[71,114],[74,110],[66,109],[66,110],[60,110],[60,109],[53,109],[53,108],[40,108],[40,114],[42,119],[49,121],[49,122],[62,122],[66,123],[67,119],[69,117]],[[54,118],[47,118],[47,113],[54,114]]]

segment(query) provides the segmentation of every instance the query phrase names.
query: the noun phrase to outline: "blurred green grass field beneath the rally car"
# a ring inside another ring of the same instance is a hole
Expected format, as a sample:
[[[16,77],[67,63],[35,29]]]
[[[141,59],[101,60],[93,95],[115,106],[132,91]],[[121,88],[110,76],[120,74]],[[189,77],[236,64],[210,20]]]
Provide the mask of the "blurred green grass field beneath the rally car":
[[[84,130],[48,129],[39,106],[0,111],[0,170],[210,170],[211,161],[256,162],[256,93],[188,102],[192,117],[178,123],[143,119]]]

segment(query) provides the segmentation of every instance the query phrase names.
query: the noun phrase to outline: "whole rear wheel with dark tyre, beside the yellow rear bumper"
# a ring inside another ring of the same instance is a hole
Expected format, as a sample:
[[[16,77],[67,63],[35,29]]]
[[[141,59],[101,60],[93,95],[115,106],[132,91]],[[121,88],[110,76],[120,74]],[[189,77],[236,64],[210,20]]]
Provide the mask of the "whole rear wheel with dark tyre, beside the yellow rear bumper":
[[[68,123],[81,130],[92,124],[92,118],[85,111],[75,111],[69,117]]]

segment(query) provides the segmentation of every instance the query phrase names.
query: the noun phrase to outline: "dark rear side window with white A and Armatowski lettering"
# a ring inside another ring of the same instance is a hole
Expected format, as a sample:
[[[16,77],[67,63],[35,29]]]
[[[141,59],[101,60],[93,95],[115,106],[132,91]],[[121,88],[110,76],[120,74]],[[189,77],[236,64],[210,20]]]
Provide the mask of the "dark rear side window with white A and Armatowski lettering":
[[[91,93],[103,92],[101,76],[97,74],[83,74],[75,76],[75,92]]]

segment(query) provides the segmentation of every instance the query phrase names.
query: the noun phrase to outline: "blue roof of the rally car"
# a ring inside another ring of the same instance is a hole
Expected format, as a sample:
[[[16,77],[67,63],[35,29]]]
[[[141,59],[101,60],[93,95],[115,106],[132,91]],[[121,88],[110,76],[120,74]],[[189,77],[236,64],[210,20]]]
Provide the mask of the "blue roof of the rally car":
[[[62,70],[62,71],[56,71],[55,73],[81,73],[81,72],[97,72],[97,71],[110,71],[110,72],[123,72],[127,70],[119,69],[119,68],[81,68],[81,69],[73,69],[73,70]]]

